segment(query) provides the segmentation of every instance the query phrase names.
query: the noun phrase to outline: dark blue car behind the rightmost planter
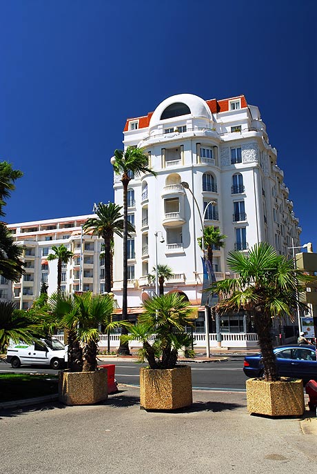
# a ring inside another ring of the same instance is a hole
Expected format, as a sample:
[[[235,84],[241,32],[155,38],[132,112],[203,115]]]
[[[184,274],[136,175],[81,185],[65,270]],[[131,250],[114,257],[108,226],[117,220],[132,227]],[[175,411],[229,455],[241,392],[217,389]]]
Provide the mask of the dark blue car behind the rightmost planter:
[[[291,344],[274,348],[280,377],[296,377],[304,383],[313,379],[317,382],[316,349],[304,344]],[[243,364],[247,377],[263,377],[262,354],[247,355]]]

